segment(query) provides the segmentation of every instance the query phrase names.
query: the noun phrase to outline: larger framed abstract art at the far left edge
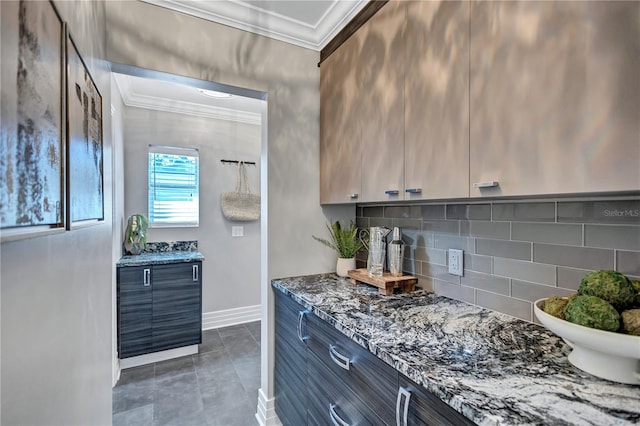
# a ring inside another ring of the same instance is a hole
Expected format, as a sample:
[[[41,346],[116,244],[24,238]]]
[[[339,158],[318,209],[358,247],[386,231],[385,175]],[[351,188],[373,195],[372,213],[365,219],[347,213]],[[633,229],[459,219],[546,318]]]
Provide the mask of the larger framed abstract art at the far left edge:
[[[4,242],[65,229],[65,24],[50,1],[0,8]]]

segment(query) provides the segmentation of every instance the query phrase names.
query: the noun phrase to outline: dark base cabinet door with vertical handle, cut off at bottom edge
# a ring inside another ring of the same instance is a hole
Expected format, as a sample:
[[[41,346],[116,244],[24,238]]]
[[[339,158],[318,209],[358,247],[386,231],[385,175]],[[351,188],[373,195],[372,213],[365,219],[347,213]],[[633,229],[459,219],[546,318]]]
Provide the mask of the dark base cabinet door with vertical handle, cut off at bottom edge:
[[[398,426],[471,426],[475,424],[402,374],[399,382],[399,389],[402,389],[403,393],[398,401],[398,418],[400,419]],[[405,408],[407,408],[406,422],[404,421]]]

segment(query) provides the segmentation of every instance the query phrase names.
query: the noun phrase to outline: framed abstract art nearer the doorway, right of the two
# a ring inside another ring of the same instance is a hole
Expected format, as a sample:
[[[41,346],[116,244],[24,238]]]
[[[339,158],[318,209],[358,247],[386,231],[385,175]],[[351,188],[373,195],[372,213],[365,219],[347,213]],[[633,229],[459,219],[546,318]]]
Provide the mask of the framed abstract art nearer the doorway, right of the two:
[[[104,219],[102,96],[67,36],[67,227]]]

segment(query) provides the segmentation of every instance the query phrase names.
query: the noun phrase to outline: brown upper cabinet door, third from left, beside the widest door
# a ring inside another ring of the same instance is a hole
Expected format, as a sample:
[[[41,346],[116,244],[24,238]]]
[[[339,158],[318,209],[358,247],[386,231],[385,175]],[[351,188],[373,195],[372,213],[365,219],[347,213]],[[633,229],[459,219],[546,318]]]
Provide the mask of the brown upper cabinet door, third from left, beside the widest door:
[[[406,199],[469,196],[469,3],[407,3]]]

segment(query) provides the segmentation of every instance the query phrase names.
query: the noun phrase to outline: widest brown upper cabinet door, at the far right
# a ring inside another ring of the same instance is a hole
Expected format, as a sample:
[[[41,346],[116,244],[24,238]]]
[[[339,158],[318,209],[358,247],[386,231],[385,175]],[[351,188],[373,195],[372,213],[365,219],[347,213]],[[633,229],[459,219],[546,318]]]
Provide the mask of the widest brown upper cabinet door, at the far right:
[[[638,16],[638,2],[471,5],[472,197],[640,188]]]

